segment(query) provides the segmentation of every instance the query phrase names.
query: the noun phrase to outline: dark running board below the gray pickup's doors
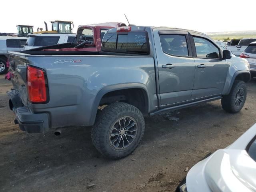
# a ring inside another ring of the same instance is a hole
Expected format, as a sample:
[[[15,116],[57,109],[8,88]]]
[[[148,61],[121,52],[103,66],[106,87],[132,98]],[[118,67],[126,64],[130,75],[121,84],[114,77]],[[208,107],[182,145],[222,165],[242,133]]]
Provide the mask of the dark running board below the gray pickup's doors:
[[[160,114],[160,113],[166,112],[166,111],[172,111],[172,110],[187,108],[187,107],[190,107],[190,106],[198,105],[200,103],[206,103],[206,102],[210,102],[210,101],[214,101],[214,100],[219,100],[221,98],[222,98],[222,96],[217,96],[217,97],[213,97],[213,98],[209,98],[209,99],[204,99],[204,100],[195,101],[195,102],[191,102],[191,103],[186,103],[186,104],[182,104],[182,105],[163,108],[163,109],[160,109],[158,111],[150,113],[150,116],[157,115],[157,114]]]

